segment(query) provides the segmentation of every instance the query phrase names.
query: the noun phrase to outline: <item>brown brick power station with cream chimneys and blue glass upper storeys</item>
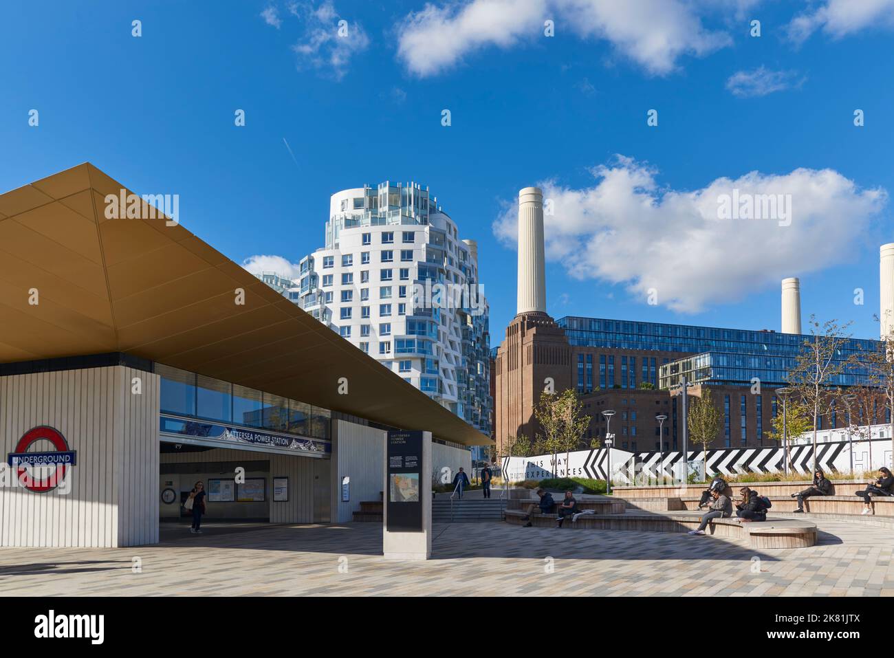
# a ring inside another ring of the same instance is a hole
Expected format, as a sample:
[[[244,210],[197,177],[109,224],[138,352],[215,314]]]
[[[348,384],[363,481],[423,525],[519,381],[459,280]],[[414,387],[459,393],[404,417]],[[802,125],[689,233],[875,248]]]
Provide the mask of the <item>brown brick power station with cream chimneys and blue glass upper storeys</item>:
[[[534,409],[547,378],[552,378],[556,392],[574,388],[584,413],[592,417],[580,448],[588,447],[593,438],[604,438],[602,412],[611,409],[615,412],[611,418],[615,447],[634,452],[658,450],[660,424],[655,417],[664,414],[662,450],[681,449],[680,401],[671,397],[670,387],[679,384],[683,375],[710,388],[713,402],[721,410],[721,429],[709,447],[771,445],[767,434],[772,419],[782,413],[775,390],[786,385],[797,353],[809,338],[801,334],[797,279],[782,282],[782,332],[594,317],[554,320],[545,306],[542,203],[537,188],[519,192],[518,308],[495,361],[494,438],[501,451],[507,440],[519,434],[532,440],[538,434]],[[885,247],[881,253],[884,278]],[[885,290],[883,281],[882,314],[894,304],[894,300],[884,299]],[[877,345],[871,340],[849,339],[839,358],[875,350]],[[833,384],[858,384],[859,376],[859,372],[840,375]],[[759,391],[754,388],[755,381],[760,382]],[[876,418],[860,418],[860,422],[888,422],[889,414],[880,401]],[[846,418],[845,409],[833,409],[828,418],[822,418],[822,424],[843,426]],[[697,448],[690,443],[690,450]]]

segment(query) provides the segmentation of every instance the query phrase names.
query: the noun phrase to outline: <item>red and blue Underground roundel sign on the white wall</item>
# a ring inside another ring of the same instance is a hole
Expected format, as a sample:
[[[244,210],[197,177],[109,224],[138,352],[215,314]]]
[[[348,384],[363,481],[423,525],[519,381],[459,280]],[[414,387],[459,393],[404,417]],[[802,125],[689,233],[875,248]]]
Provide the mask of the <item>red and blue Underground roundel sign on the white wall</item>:
[[[29,451],[29,448],[53,450]],[[46,493],[62,484],[70,466],[74,466],[76,452],[69,450],[62,432],[49,426],[38,426],[28,430],[9,453],[7,463],[15,468],[15,477],[29,491]]]

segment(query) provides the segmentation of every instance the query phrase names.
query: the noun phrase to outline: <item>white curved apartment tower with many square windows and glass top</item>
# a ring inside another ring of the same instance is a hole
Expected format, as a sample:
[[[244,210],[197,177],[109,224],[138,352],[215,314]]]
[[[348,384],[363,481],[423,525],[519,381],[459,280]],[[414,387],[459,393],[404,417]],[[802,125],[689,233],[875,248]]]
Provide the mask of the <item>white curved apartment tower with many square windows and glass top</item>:
[[[385,181],[333,194],[325,248],[301,260],[297,283],[301,308],[491,433],[477,245],[427,188]]]

